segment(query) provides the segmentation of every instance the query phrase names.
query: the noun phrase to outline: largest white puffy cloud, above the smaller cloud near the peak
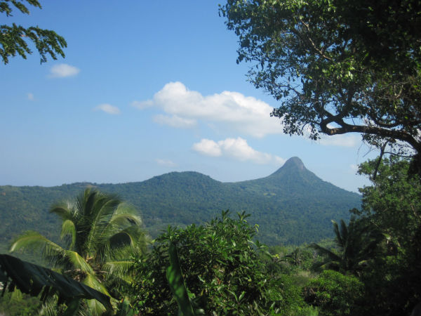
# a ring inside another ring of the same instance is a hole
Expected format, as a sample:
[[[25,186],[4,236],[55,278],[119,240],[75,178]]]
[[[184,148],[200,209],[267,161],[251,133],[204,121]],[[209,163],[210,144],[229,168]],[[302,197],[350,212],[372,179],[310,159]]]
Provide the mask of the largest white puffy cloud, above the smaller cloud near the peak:
[[[166,115],[154,117],[160,124],[173,127],[192,127],[196,121],[224,124],[254,137],[282,133],[281,121],[269,114],[273,108],[262,100],[232,91],[202,96],[190,91],[181,82],[166,84],[152,100],[134,101],[134,107],[157,107]]]

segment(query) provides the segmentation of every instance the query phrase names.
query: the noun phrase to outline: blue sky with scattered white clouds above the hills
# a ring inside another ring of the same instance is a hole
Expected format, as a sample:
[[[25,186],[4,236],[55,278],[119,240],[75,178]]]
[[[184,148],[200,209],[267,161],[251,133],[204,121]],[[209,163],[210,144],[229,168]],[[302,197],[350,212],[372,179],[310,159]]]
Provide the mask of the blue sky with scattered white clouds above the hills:
[[[128,183],[172,171],[235,182],[290,157],[346,190],[375,157],[359,134],[282,133],[278,101],[247,81],[212,0],[41,0],[1,23],[53,29],[65,58],[0,65],[0,185]]]

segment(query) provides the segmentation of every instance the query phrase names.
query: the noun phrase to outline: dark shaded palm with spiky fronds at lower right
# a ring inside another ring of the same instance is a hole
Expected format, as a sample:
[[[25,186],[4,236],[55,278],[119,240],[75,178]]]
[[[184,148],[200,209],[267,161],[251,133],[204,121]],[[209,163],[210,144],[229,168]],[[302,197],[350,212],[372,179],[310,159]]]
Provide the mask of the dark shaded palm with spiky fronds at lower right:
[[[332,223],[338,251],[331,251],[319,244],[311,244],[312,248],[326,256],[326,260],[318,266],[358,275],[363,266],[375,255],[382,236],[367,223],[356,220],[354,216],[348,225],[344,220],[340,220],[340,226],[335,220],[332,220]]]

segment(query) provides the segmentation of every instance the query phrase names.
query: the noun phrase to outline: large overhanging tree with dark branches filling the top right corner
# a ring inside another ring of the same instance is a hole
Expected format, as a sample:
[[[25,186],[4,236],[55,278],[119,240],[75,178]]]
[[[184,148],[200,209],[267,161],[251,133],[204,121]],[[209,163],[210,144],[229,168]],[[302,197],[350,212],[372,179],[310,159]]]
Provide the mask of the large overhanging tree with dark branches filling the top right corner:
[[[228,0],[237,62],[281,105],[283,131],[362,133],[411,154],[421,174],[421,4],[415,0]]]

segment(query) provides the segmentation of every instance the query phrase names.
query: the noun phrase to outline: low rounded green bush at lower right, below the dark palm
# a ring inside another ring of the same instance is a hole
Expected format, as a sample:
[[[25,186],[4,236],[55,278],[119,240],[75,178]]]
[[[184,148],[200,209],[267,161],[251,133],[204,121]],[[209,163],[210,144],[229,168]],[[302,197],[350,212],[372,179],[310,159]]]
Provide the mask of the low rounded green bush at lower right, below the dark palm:
[[[319,307],[321,315],[361,315],[364,285],[352,275],[325,270],[303,289],[305,301]]]

